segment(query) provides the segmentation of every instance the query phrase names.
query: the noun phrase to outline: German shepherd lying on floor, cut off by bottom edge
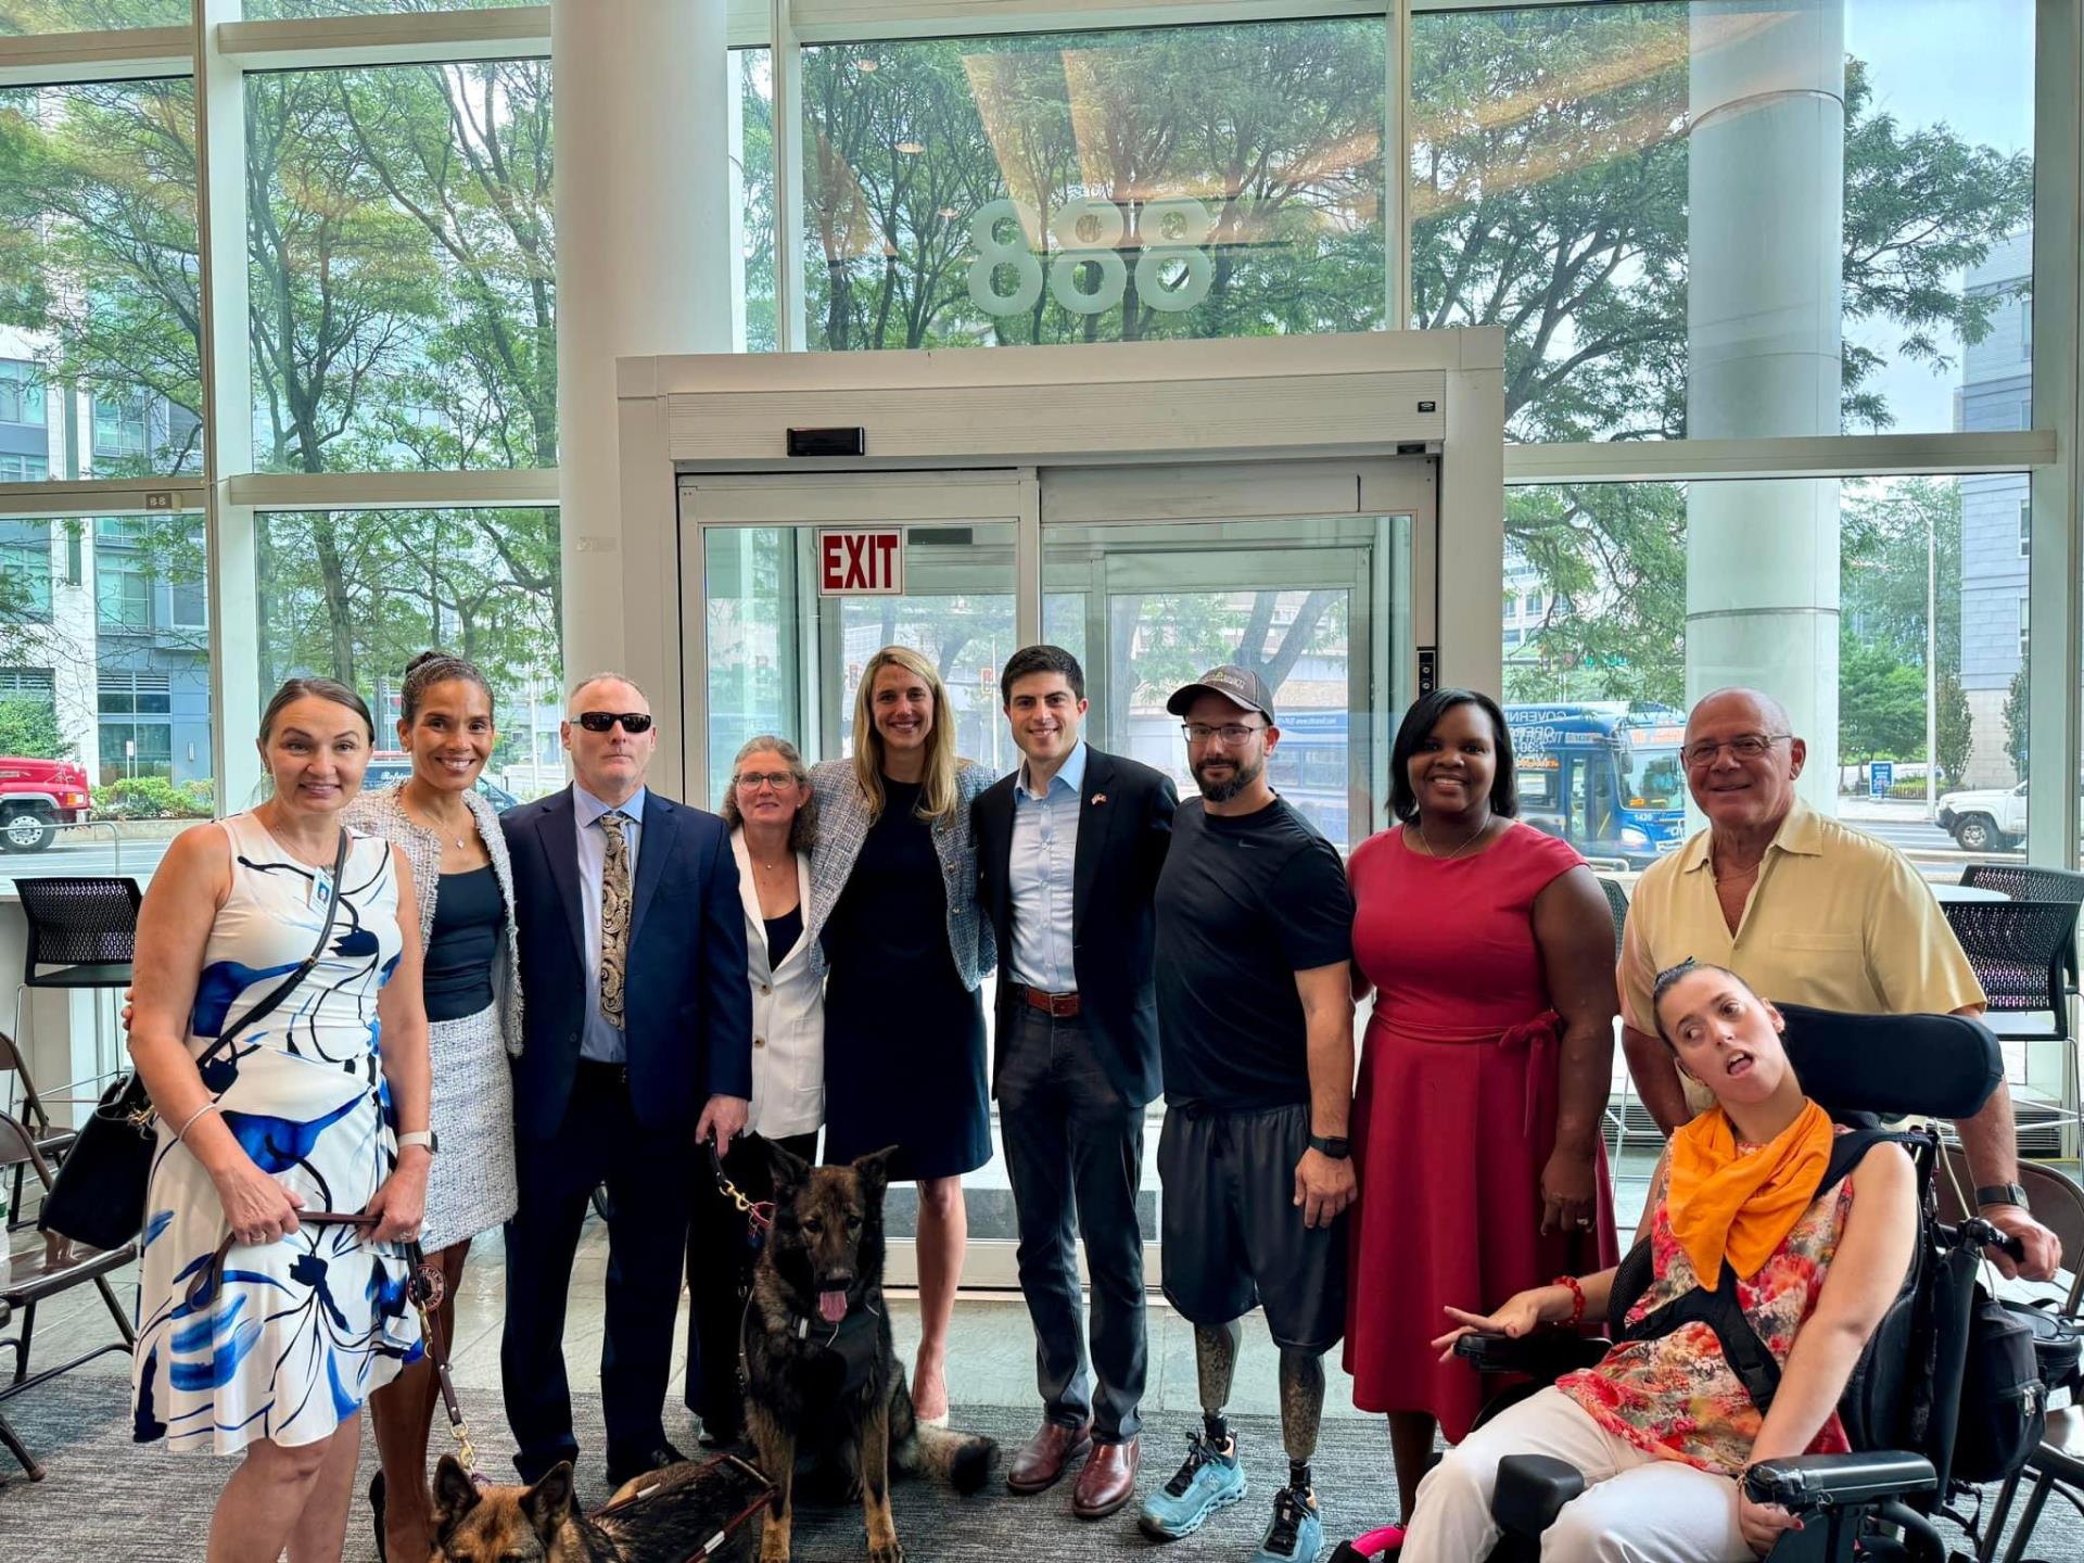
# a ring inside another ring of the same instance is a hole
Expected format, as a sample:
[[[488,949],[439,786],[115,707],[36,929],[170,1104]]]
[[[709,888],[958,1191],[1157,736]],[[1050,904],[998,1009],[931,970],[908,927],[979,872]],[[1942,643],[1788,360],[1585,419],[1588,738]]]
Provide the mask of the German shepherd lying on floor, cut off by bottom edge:
[[[744,1461],[681,1461],[625,1482],[596,1515],[571,1500],[571,1461],[536,1486],[479,1488],[454,1455],[433,1471],[440,1563],[750,1563],[767,1480]],[[715,1538],[715,1540],[711,1540]]]

